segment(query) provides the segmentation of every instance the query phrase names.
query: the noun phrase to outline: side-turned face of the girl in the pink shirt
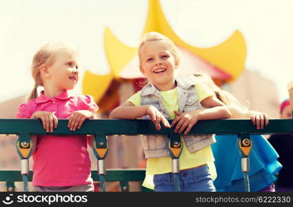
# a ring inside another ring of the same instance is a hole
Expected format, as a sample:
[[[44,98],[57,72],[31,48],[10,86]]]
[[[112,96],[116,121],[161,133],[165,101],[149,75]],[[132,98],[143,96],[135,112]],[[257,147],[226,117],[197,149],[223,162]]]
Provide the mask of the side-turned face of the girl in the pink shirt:
[[[54,57],[54,62],[48,66],[50,85],[57,90],[71,90],[79,80],[77,69],[77,56],[69,50],[59,50]]]

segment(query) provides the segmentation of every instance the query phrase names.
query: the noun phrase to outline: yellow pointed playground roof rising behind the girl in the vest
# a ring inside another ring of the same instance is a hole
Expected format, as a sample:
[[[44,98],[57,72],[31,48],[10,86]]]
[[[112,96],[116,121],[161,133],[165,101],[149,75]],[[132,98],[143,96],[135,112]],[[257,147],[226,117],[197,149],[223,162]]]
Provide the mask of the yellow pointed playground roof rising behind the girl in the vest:
[[[165,19],[159,0],[149,0],[148,17],[143,34],[146,32],[160,32],[174,41],[190,63],[185,64],[186,66],[181,70],[183,73],[203,72],[204,70],[214,77],[233,81],[244,70],[246,45],[239,30],[217,46],[196,48],[185,43],[172,30]],[[83,77],[83,93],[92,95],[97,102],[109,88],[112,79],[142,77],[138,65],[133,64],[137,58],[137,47],[125,46],[114,36],[110,28],[105,28],[104,45],[111,72],[108,75],[95,75],[86,71]],[[137,70],[135,70],[136,67]]]

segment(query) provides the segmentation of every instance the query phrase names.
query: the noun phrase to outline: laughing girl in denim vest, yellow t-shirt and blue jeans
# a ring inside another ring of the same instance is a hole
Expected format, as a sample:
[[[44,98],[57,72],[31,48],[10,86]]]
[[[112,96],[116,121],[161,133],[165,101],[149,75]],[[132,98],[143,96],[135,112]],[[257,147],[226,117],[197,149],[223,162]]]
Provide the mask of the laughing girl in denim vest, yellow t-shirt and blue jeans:
[[[187,134],[197,121],[230,118],[230,111],[208,87],[196,83],[195,78],[175,77],[174,70],[179,66],[178,49],[162,34],[145,34],[139,46],[139,60],[139,68],[150,83],[115,108],[110,119],[137,119],[147,115],[156,130],[161,129],[162,123],[166,128],[174,127],[174,132],[183,133],[183,152],[179,158],[181,191],[215,191],[212,179],[216,172],[210,148],[214,137],[187,138]],[[172,123],[166,118],[173,119]],[[155,191],[174,191],[171,158],[165,144],[162,147],[162,139],[160,136],[143,139],[148,159],[146,174],[154,175]]]

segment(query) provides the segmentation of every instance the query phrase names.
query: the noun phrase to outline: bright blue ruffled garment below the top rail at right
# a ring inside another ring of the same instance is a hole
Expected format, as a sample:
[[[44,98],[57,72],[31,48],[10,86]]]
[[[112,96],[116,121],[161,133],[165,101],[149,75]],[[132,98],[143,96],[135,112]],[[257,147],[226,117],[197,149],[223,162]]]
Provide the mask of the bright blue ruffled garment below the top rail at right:
[[[277,161],[278,153],[261,135],[251,135],[250,152],[250,191],[259,191],[276,181],[276,175],[282,166]],[[214,180],[216,191],[245,191],[241,154],[237,147],[237,135],[216,135],[212,144],[217,177]]]

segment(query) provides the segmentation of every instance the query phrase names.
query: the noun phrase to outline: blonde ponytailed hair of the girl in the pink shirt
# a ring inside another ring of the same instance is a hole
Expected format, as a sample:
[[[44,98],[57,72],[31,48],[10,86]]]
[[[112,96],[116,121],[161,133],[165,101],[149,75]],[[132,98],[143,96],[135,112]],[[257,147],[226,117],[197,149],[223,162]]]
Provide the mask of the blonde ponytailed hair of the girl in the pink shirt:
[[[39,70],[40,67],[43,65],[51,66],[52,63],[54,63],[57,53],[60,50],[67,50],[68,52],[72,52],[73,54],[77,53],[77,50],[75,50],[72,46],[69,46],[68,44],[63,42],[56,41],[46,43],[34,55],[31,66],[32,78],[34,79],[34,88],[28,95],[27,101],[31,99],[36,99],[38,97],[37,88],[39,86],[43,86],[43,81],[41,80],[41,72]]]

